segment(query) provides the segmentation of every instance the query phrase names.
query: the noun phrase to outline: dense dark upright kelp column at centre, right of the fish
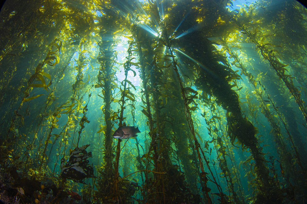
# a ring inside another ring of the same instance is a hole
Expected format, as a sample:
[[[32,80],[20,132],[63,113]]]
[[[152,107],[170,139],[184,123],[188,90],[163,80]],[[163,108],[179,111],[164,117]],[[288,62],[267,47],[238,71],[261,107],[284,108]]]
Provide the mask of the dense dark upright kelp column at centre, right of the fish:
[[[155,52],[153,50],[153,47],[151,46],[152,43],[155,43],[155,39],[152,39],[151,36],[147,35],[146,32],[142,30],[142,28],[139,28],[140,31],[138,32],[137,39],[141,40],[141,43],[139,43],[139,49],[143,48],[142,53],[140,53],[140,59],[143,58],[143,63],[146,63],[147,65],[144,67],[145,74],[142,74],[142,77],[147,77],[145,80],[147,84],[143,83],[144,92],[147,92],[146,97],[146,106],[147,111],[144,109],[142,112],[150,119],[150,137],[151,137],[151,143],[149,147],[149,151],[147,153],[147,165],[146,169],[149,168],[150,160],[152,160],[154,164],[154,171],[155,172],[164,172],[165,169],[167,169],[167,165],[169,164],[168,155],[162,156],[162,149],[164,147],[164,143],[162,141],[162,137],[164,137],[164,128],[163,123],[161,121],[161,111],[160,111],[160,103],[161,100],[159,97],[160,93],[160,86],[161,80],[162,80],[162,70],[155,66]],[[142,37],[141,37],[142,36]],[[149,39],[148,39],[149,38]],[[139,41],[138,40],[138,41]],[[141,44],[141,45],[140,45]],[[142,46],[142,47],[140,47]],[[144,55],[144,51],[147,51],[147,55]],[[142,55],[141,55],[142,54]],[[143,72],[143,70],[141,70]],[[147,90],[146,90],[147,89]],[[148,98],[147,98],[148,97]],[[150,97],[152,97],[151,101],[149,100]],[[148,101],[147,101],[148,99]],[[148,102],[148,103],[147,103]],[[150,115],[149,115],[150,114]],[[160,121],[159,121],[160,120]],[[152,125],[152,126],[151,126]],[[162,165],[164,163],[164,165]],[[161,174],[154,174],[153,183],[150,183],[151,179],[148,179],[148,173],[145,174],[146,180],[145,180],[145,188],[149,189],[148,201],[150,202],[165,202],[166,201],[166,194],[165,194],[165,183],[167,179],[162,179],[162,177],[165,177],[165,175]],[[154,195],[152,193],[157,192],[157,194],[160,195]]]

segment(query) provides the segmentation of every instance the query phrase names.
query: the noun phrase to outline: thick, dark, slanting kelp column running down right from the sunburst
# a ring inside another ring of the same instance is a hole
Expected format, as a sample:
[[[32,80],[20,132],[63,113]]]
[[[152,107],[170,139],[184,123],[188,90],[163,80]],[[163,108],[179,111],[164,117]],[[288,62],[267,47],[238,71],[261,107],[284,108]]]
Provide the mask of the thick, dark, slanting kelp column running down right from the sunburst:
[[[211,13],[215,13],[216,15],[211,16],[212,20],[218,19],[219,15],[215,10],[216,8],[212,7],[212,4],[209,5],[210,2],[207,3],[208,8],[212,9]],[[222,5],[226,6],[222,2],[218,4],[219,7],[222,7]],[[193,6],[195,5],[186,5],[186,7]],[[176,11],[174,10],[174,14],[172,15],[175,15],[175,13],[179,11],[180,9]],[[181,23],[180,29],[188,30],[191,27],[191,22],[197,22],[197,15],[197,10],[193,14],[191,11],[186,19]],[[198,21],[200,20],[198,19]],[[172,24],[176,25],[178,23],[172,22]],[[199,76],[195,82],[196,87],[202,89],[206,94],[213,94],[216,97],[218,104],[227,110],[227,129],[231,141],[235,142],[235,140],[238,139],[251,150],[251,153],[255,158],[257,166],[256,170],[259,176],[258,178],[264,186],[268,187],[264,188],[263,192],[265,192],[265,195],[270,195],[270,192],[278,191],[278,188],[270,182],[272,179],[269,176],[265,160],[261,155],[261,150],[258,146],[258,141],[255,136],[255,127],[250,121],[243,117],[238,95],[231,89],[231,81],[234,79],[240,79],[240,77],[231,70],[226,59],[214,52],[215,49],[212,46],[212,43],[203,37],[207,35],[206,29],[202,29],[202,31],[204,33],[192,32],[189,33],[189,35],[180,37],[175,46],[181,47],[181,50],[184,50],[188,55],[193,54],[192,61],[199,64],[198,69],[196,70],[197,75]],[[198,39],[198,41],[195,41],[195,39]],[[202,46],[199,46],[199,41],[201,41]]]

